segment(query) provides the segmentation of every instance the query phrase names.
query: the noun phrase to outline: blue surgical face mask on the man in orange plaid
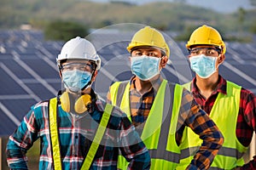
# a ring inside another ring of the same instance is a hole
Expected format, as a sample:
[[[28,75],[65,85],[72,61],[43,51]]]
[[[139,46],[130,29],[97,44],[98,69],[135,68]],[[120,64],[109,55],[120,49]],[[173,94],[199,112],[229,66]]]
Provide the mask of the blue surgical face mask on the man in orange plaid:
[[[131,57],[131,72],[139,79],[147,81],[160,74],[160,58],[147,55]]]

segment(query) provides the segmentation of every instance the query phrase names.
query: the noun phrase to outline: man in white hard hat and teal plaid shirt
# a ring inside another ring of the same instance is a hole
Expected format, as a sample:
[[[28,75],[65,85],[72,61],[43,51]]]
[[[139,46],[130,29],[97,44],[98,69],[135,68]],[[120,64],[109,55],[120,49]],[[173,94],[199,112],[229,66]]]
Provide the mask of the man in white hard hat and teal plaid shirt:
[[[33,105],[10,135],[11,169],[27,169],[26,151],[40,139],[39,169],[117,169],[119,150],[129,169],[149,169],[150,156],[124,112],[91,88],[101,59],[91,42],[76,37],[57,57],[64,90]]]

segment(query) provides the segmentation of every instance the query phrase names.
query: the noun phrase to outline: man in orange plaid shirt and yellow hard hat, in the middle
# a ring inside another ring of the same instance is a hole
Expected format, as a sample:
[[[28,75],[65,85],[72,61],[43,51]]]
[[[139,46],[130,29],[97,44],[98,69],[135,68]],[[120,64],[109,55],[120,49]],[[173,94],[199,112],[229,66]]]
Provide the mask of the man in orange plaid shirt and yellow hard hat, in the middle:
[[[151,169],[177,167],[185,126],[204,140],[188,168],[209,167],[224,141],[222,133],[188,90],[160,76],[170,56],[163,35],[145,26],[134,34],[127,50],[134,76],[129,81],[114,82],[107,99],[125,111],[137,128],[149,150]],[[125,159],[119,156],[119,168],[125,169],[125,165]]]

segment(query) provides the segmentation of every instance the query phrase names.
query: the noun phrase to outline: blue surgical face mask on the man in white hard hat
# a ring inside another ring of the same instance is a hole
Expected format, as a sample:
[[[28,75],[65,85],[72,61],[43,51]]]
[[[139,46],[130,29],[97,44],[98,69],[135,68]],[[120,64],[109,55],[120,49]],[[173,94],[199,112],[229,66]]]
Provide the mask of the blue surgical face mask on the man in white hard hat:
[[[82,90],[91,80],[91,73],[89,71],[63,71],[62,78],[65,88],[73,92]]]

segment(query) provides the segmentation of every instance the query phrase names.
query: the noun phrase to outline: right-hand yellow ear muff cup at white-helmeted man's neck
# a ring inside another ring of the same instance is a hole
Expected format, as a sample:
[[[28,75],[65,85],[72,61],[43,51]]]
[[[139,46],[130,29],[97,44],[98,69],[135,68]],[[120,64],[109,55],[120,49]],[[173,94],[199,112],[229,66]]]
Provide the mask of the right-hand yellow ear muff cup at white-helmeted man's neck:
[[[89,94],[84,94],[79,99],[77,99],[75,105],[74,105],[74,110],[77,113],[84,113],[84,111],[87,111],[87,105],[91,104],[91,98]]]

